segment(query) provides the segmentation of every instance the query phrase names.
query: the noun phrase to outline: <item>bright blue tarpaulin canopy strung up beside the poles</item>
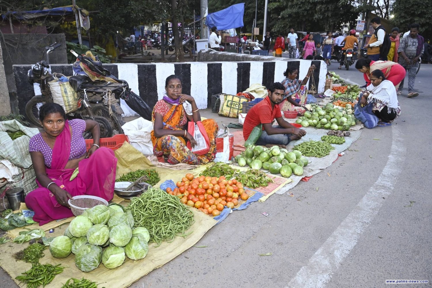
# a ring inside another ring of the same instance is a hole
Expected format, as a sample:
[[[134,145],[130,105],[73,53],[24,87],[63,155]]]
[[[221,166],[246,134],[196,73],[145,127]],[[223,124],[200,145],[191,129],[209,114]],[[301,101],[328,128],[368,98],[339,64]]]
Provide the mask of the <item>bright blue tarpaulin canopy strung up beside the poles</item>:
[[[238,3],[226,9],[207,15],[207,26],[216,26],[218,30],[243,27],[243,14],[245,13],[245,3]]]

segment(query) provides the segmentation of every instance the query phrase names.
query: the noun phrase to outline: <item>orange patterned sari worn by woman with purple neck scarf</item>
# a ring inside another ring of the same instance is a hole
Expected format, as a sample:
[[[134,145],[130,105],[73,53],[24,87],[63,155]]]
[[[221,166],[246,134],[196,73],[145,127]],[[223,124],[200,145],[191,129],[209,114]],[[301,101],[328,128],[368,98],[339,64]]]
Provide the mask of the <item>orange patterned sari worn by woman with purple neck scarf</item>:
[[[152,112],[152,122],[155,122],[155,114],[159,113],[163,117],[163,128],[167,130],[185,130],[186,112],[183,105],[173,105],[168,108],[165,101],[159,100]],[[187,139],[184,137],[165,135],[156,138],[154,131],[151,132],[154,155],[168,158],[168,163],[187,163],[190,165],[206,164],[212,161],[216,155],[216,136],[219,127],[215,120],[206,119],[202,121],[210,140],[210,151],[204,155],[196,155],[186,147]]]

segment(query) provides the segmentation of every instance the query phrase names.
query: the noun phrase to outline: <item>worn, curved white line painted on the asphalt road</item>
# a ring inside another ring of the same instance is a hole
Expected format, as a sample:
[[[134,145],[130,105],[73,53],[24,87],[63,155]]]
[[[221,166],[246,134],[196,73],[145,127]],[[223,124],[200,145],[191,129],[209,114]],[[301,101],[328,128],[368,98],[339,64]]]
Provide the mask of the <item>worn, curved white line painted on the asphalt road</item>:
[[[291,279],[287,287],[324,288],[343,259],[356,246],[360,235],[383,205],[385,201],[383,197],[391,194],[394,178],[401,171],[400,163],[404,162],[406,148],[395,126],[392,126],[392,133],[390,155],[378,180],[360,200],[357,207],[309,259],[308,265],[303,266]]]

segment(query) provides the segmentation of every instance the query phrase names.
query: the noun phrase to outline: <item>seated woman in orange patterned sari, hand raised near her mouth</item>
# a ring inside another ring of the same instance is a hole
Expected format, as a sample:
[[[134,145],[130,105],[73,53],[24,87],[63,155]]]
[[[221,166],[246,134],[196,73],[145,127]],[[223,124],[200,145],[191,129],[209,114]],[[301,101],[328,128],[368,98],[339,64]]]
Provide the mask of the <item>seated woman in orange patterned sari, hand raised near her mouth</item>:
[[[216,155],[216,136],[219,127],[215,120],[203,120],[203,126],[210,141],[210,151],[204,155],[194,154],[186,147],[190,142],[193,148],[197,142],[187,132],[187,121],[201,121],[200,112],[195,99],[182,94],[181,78],[168,76],[165,80],[166,96],[156,102],[152,112],[153,153],[163,156],[165,162],[171,164],[187,163],[191,165],[206,164]]]

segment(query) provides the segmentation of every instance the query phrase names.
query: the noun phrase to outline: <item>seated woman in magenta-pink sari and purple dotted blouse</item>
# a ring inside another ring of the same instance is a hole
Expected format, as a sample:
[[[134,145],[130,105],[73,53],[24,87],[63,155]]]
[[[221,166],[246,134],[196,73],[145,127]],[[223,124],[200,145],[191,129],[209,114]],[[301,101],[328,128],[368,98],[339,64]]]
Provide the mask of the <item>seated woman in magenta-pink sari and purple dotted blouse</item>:
[[[33,220],[44,225],[73,216],[67,201],[73,196],[93,195],[107,201],[114,196],[117,158],[99,148],[99,125],[92,120],[65,120],[59,104],[47,103],[39,111],[44,132],[30,139],[29,151],[39,188],[25,197],[35,211]],[[83,132],[91,130],[93,146],[86,151]],[[77,174],[78,173],[78,174]]]

